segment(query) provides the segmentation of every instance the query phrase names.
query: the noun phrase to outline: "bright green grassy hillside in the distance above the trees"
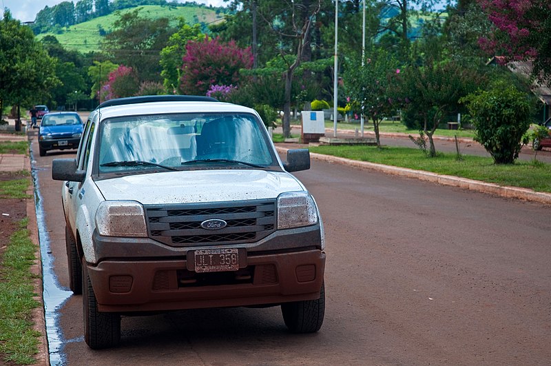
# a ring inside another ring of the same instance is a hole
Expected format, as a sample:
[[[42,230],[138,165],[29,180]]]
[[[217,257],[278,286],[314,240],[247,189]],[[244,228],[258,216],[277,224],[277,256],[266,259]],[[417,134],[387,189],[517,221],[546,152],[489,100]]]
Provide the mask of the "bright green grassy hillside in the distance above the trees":
[[[196,23],[216,23],[222,21],[224,14],[216,14],[216,10],[205,7],[194,6],[140,6],[140,16],[149,19],[168,18],[171,26],[178,25],[178,18],[184,17],[189,25]],[[120,10],[121,13],[130,12],[136,8]],[[98,17],[91,21],[85,21],[68,28],[63,28],[60,34],[41,33],[37,35],[37,39],[42,39],[47,35],[56,37],[65,48],[68,50],[77,50],[82,53],[97,51],[101,47],[103,36],[100,30],[110,32],[113,23],[118,19],[118,12]]]

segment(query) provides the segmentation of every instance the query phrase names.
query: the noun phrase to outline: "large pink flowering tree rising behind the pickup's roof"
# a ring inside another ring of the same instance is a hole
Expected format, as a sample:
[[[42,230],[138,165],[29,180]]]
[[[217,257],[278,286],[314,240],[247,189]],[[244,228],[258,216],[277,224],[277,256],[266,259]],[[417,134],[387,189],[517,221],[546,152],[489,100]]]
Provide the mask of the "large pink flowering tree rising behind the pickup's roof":
[[[185,94],[205,95],[211,85],[238,85],[239,70],[253,65],[249,48],[220,39],[189,41],[183,57],[180,89]]]

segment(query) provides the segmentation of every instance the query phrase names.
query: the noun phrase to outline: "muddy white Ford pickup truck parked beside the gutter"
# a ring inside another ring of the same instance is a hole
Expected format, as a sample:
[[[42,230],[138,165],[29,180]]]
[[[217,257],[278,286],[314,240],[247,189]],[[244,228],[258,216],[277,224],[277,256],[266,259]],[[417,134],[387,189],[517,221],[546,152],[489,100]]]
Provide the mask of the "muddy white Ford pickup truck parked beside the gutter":
[[[55,159],[70,288],[85,341],[121,340],[121,314],[280,305],[291,332],[324,318],[324,230],[255,110],[203,96],[99,105],[76,159]]]

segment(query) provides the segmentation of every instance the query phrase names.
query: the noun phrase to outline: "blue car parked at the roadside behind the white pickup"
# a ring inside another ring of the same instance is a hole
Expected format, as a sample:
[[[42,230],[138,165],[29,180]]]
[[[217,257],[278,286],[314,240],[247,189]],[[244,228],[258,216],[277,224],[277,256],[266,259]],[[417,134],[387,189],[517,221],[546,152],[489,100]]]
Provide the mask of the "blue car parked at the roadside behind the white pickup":
[[[82,130],[81,117],[75,112],[45,114],[39,129],[40,156],[44,156],[48,150],[78,148]]]

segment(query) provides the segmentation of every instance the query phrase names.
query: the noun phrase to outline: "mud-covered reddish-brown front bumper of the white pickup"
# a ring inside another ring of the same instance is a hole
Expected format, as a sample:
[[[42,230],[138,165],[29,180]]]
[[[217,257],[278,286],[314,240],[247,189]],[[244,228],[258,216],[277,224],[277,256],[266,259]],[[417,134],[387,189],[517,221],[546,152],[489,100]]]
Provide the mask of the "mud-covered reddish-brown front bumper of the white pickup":
[[[248,253],[238,272],[196,274],[187,259],[110,260],[87,265],[101,312],[157,312],[277,305],[320,297],[325,253]]]

